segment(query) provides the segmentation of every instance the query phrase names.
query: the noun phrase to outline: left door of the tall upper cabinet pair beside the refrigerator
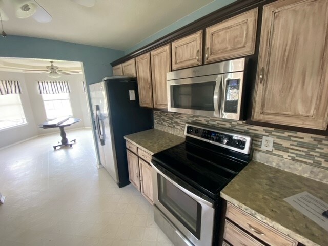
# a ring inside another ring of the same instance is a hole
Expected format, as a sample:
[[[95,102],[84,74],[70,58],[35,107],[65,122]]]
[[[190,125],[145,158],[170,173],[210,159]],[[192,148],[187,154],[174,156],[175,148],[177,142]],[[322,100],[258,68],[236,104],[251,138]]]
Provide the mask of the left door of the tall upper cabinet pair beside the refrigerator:
[[[138,78],[139,104],[141,107],[153,108],[150,53],[136,57],[135,63]]]

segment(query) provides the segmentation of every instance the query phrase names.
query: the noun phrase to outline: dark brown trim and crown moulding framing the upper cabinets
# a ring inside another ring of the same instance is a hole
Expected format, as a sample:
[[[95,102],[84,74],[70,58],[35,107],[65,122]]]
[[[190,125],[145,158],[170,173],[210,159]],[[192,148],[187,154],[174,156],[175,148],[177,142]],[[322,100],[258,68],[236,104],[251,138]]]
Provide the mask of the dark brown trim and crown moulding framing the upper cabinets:
[[[111,63],[112,66],[116,66],[118,64],[124,63],[125,61],[135,58],[139,55],[142,55],[146,52],[154,50],[160,46],[169,44],[174,40],[179,38],[185,37],[189,34],[195,33],[199,30],[203,30],[203,44],[205,42],[204,35],[205,28],[222,22],[228,18],[231,18],[237,14],[242,12],[248,11],[250,9],[259,8],[258,12],[258,22],[257,22],[257,34],[256,34],[256,45],[255,45],[255,54],[248,56],[249,58],[249,66],[248,66],[248,73],[246,74],[246,83],[245,83],[245,98],[244,98],[244,119],[246,119],[246,124],[249,125],[256,125],[261,127],[270,127],[275,129],[282,129],[288,131],[295,131],[295,132],[304,132],[309,134],[316,134],[316,135],[323,135],[328,136],[328,129],[326,130],[316,130],[310,128],[302,128],[302,127],[293,127],[293,126],[286,126],[286,125],[278,125],[278,124],[270,124],[266,122],[259,122],[253,121],[252,118],[252,109],[253,109],[253,100],[254,100],[254,90],[255,90],[255,82],[256,82],[256,73],[257,73],[257,63],[258,63],[258,54],[259,54],[259,43],[260,43],[260,32],[261,32],[261,25],[262,25],[262,8],[265,4],[269,4],[275,2],[276,0],[237,0],[234,3],[231,3],[227,6],[224,6],[221,9],[218,9],[206,16],[203,16],[194,22],[188,24],[185,27],[182,27],[172,33],[169,33],[166,36],[163,36],[154,42],[137,49],[136,51],[125,55]],[[203,45],[203,55],[202,55],[202,63],[204,64],[204,54],[205,54],[205,46]],[[158,111],[167,111],[164,109],[153,109]]]

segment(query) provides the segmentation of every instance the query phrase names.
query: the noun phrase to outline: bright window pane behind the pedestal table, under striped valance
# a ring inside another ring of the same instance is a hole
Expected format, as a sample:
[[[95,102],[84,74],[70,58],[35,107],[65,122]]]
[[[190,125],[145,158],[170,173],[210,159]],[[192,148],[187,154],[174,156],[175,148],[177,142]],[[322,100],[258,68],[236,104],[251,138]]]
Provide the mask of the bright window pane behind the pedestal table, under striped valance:
[[[47,119],[72,116],[69,93],[42,94]]]

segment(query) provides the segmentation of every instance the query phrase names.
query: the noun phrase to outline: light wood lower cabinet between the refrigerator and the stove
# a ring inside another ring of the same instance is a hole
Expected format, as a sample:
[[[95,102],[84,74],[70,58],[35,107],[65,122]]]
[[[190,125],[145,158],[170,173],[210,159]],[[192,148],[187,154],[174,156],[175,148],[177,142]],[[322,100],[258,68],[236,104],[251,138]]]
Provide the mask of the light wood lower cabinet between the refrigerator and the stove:
[[[132,185],[153,204],[151,155],[126,141],[129,179]]]

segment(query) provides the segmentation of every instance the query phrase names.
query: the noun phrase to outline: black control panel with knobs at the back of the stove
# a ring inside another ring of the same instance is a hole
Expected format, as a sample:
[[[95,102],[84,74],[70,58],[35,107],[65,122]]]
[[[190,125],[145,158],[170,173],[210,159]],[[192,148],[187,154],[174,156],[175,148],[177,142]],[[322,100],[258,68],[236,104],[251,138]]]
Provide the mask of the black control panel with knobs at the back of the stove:
[[[247,139],[233,134],[227,134],[220,131],[202,129],[199,127],[187,126],[187,134],[196,138],[201,138],[210,142],[217,142],[223,146],[230,146],[236,149],[243,150]]]

